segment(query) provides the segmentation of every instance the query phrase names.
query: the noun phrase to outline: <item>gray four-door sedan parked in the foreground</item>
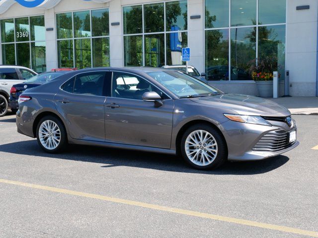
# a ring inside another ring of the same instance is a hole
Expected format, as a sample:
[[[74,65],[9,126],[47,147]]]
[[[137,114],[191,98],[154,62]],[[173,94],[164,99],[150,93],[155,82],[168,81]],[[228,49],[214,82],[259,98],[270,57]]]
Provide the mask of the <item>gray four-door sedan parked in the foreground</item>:
[[[70,144],[180,154],[196,169],[261,160],[294,149],[288,109],[224,94],[164,68],[69,72],[19,96],[17,131],[48,153]]]

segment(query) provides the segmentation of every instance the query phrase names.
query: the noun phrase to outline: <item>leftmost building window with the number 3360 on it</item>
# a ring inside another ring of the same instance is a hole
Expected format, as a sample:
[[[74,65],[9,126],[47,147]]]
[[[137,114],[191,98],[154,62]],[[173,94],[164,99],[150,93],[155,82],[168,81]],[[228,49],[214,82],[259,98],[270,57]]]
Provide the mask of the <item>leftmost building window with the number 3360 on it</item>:
[[[46,71],[44,16],[0,20],[3,64]]]

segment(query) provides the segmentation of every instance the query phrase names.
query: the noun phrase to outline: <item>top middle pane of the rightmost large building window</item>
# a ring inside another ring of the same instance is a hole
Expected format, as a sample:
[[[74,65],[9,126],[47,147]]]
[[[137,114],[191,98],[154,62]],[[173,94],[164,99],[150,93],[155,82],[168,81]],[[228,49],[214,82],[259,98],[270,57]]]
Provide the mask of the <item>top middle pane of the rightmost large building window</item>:
[[[231,25],[256,25],[256,0],[231,0]]]

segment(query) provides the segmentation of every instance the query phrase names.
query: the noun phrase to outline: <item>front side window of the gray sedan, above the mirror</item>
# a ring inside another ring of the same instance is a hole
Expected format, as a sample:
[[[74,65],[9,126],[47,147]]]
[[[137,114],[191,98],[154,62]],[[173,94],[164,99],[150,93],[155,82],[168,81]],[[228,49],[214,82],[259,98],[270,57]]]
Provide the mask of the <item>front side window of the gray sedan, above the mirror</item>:
[[[126,73],[114,73],[112,82],[113,97],[143,100],[142,96],[146,92],[156,92],[162,99],[169,98],[161,90],[141,77]]]

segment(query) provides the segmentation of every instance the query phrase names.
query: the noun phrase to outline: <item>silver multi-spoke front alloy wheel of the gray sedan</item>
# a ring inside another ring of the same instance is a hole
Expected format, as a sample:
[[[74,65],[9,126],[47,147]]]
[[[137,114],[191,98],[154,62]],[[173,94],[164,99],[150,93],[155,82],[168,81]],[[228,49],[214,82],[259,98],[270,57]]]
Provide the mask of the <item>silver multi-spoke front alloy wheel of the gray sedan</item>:
[[[210,165],[218,155],[218,144],[211,133],[205,130],[191,132],[185,141],[188,159],[197,166]]]

